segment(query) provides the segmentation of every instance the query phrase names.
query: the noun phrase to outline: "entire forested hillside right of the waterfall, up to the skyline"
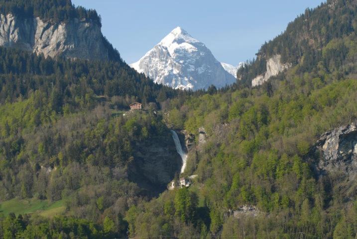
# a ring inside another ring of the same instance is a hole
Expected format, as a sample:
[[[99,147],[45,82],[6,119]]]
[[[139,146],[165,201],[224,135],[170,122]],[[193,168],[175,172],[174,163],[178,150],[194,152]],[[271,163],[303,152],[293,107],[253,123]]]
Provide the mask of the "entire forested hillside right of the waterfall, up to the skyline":
[[[198,177],[131,207],[132,237],[356,238],[356,179],[321,176],[312,153],[321,134],[357,117],[356,6],[307,9],[238,71],[238,90],[170,102],[166,120],[196,135],[185,175]],[[249,88],[274,54],[292,67]]]

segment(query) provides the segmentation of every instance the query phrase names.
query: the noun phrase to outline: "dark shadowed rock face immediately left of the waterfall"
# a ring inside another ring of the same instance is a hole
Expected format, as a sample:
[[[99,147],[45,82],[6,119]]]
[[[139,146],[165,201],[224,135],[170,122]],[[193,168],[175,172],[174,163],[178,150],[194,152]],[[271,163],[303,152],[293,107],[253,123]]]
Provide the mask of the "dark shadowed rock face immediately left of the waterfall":
[[[134,149],[128,178],[148,190],[150,196],[156,196],[166,189],[182,165],[172,135],[168,132],[167,135],[151,138],[135,145]]]

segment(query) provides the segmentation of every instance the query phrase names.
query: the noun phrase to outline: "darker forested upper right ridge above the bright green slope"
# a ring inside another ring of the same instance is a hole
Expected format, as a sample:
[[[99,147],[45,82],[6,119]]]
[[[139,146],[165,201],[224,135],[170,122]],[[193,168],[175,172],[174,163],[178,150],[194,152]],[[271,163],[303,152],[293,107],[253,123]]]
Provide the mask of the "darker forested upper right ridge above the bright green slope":
[[[328,0],[315,9],[306,9],[286,30],[262,45],[256,58],[238,70],[238,85],[266,71],[266,61],[281,55],[282,63],[292,63],[296,74],[344,75],[355,70],[357,28],[355,0]]]

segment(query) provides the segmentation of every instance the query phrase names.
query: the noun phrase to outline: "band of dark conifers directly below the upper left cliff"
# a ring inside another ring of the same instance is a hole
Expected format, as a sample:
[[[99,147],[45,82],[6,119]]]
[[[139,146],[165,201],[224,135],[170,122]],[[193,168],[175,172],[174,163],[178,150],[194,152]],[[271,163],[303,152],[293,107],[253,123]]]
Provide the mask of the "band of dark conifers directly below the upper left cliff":
[[[52,98],[49,110],[59,113],[65,105],[73,109],[83,109],[85,105],[91,108],[99,96],[116,96],[118,102],[123,102],[121,107],[127,107],[125,97],[134,97],[146,104],[176,94],[168,87],[154,84],[121,60],[53,60],[17,49],[1,48],[0,65],[0,104],[28,99],[38,91]]]

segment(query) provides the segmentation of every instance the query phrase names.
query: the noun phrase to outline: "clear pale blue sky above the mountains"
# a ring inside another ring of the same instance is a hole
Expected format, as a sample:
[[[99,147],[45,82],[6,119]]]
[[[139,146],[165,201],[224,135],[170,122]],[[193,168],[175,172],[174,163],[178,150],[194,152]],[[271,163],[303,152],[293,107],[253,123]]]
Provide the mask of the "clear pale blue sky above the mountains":
[[[127,63],[181,26],[232,65],[252,59],[307,7],[323,0],[72,0],[102,16],[102,31]]]

